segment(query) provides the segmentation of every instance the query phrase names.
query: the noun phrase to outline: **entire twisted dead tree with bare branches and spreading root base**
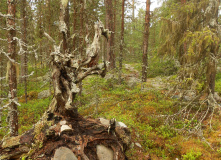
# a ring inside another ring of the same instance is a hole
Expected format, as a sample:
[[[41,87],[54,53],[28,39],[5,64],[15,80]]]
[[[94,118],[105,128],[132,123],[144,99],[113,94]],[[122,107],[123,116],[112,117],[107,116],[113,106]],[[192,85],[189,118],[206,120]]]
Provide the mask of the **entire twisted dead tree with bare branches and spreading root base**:
[[[61,12],[65,14],[68,1],[61,0]],[[62,14],[61,14],[62,15]],[[63,15],[60,16],[60,32],[67,37],[67,26]],[[101,148],[108,158],[125,160],[125,151],[130,143],[130,132],[115,119],[93,120],[84,119],[77,112],[74,99],[79,92],[77,84],[89,75],[106,74],[106,62],[95,64],[93,61],[100,52],[100,38],[107,38],[108,29],[98,21],[94,25],[93,42],[86,48],[86,57],[76,59],[74,55],[62,50],[47,34],[44,35],[54,44],[51,53],[52,78],[54,84],[54,99],[49,109],[33,129],[13,138],[0,142],[0,159],[29,159],[46,160],[52,158],[69,158],[80,160],[101,159]],[[64,39],[63,39],[64,40]],[[69,45],[67,45],[69,46]],[[88,67],[89,64],[94,64]],[[31,146],[31,148],[30,148]],[[71,156],[71,157],[70,157]]]

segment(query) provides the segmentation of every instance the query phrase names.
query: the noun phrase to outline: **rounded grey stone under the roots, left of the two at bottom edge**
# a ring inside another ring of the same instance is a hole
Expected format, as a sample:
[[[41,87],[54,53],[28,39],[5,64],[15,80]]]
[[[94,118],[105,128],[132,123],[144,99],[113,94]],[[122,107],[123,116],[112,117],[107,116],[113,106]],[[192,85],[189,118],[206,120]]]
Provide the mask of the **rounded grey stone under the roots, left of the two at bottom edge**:
[[[66,147],[56,149],[54,160],[78,160],[74,153]]]

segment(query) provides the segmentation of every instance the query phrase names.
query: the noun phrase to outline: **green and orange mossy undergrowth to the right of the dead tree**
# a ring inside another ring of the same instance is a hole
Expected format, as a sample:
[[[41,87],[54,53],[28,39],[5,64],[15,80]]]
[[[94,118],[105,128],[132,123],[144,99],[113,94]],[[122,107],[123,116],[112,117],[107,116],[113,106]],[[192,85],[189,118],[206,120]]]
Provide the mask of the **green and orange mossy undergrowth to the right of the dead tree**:
[[[150,154],[152,159],[219,159],[221,145],[218,143],[218,135],[221,135],[221,127],[213,119],[214,133],[213,143],[215,151],[198,137],[189,136],[178,132],[182,121],[174,121],[173,128],[166,125],[164,115],[174,114],[180,110],[175,105],[177,100],[166,97],[163,91],[150,89],[141,90],[141,84],[130,88],[126,82],[119,85],[112,79],[91,77],[84,81],[84,93],[79,98],[81,107],[79,112],[83,116],[106,119],[116,118],[125,123],[132,134],[132,142],[141,144],[142,148],[134,145],[127,152],[131,160],[147,159]],[[144,83],[148,87],[148,83]],[[220,128],[219,128],[220,127]],[[209,131],[207,125],[206,131]],[[218,134],[217,131],[219,131]],[[208,136],[207,136],[208,135]],[[210,134],[211,135],[211,134]],[[205,134],[208,142],[209,133]]]

